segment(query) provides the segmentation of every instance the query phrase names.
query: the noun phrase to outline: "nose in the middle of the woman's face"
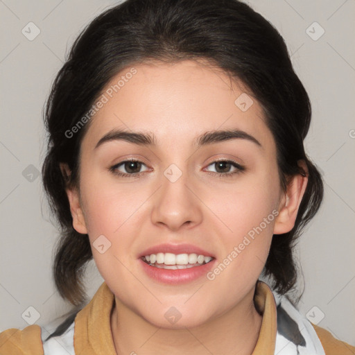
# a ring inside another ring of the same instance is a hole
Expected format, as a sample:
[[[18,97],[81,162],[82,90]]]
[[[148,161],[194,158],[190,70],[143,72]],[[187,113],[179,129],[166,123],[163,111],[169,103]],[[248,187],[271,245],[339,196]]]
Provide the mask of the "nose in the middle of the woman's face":
[[[203,204],[198,198],[198,189],[185,173],[175,182],[166,176],[162,175],[162,186],[154,195],[152,222],[174,232],[200,224]]]

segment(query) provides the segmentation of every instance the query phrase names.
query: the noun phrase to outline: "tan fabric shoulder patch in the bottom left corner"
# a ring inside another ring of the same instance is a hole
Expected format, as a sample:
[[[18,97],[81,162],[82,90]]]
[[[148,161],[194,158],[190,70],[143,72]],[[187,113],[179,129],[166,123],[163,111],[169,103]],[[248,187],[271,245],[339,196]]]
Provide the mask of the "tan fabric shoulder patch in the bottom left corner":
[[[29,325],[20,330],[6,329],[0,333],[0,355],[43,355],[41,327]]]

